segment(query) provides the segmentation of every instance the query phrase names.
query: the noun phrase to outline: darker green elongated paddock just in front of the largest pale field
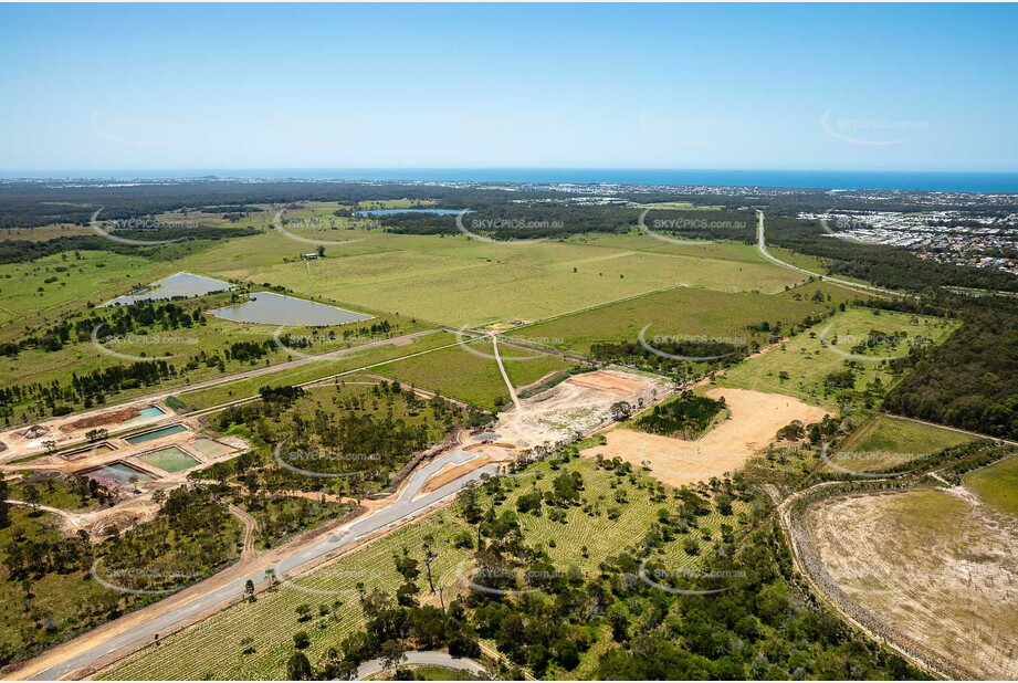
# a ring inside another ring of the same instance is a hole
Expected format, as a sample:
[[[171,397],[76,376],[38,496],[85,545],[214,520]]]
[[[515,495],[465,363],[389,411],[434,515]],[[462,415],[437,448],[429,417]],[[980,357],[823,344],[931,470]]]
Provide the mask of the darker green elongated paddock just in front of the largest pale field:
[[[819,301],[814,298],[820,293]],[[774,328],[823,313],[849,295],[825,283],[804,284],[780,294],[717,292],[681,287],[598,306],[512,332],[512,337],[587,354],[599,342],[632,342],[647,327],[646,338],[722,339],[735,345],[766,343],[769,334],[747,327],[767,322]],[[649,326],[649,327],[648,327]]]

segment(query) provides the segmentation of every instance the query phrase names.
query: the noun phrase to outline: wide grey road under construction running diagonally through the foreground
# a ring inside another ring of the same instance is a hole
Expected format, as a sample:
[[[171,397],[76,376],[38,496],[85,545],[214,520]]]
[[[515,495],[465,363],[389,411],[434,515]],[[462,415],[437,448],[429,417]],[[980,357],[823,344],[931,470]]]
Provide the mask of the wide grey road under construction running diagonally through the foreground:
[[[324,538],[301,550],[296,550],[292,555],[288,555],[284,559],[280,560],[274,566],[276,577],[284,579],[288,576],[295,576],[296,574],[300,574],[303,568],[306,568],[308,563],[313,563],[332,553],[340,550],[345,546],[364,536],[374,534],[375,532],[379,532],[392,524],[420,514],[427,508],[442,502],[444,498],[454,495],[466,482],[477,481],[483,474],[496,473],[497,467],[495,465],[485,465],[464,474],[460,479],[445,484],[437,491],[419,495],[424,482],[432,474],[438,472],[442,466],[447,464],[462,464],[469,460],[472,460],[473,458],[475,458],[475,455],[459,450],[453,450],[444,455],[437,458],[433,462],[429,463],[424,467],[421,467],[410,476],[407,486],[399,495],[399,498],[397,498],[392,504],[378,509],[366,517],[356,519],[346,526],[340,527],[335,534],[328,536],[327,538]],[[232,580],[229,584],[217,588],[216,590],[201,595],[189,602],[177,606],[162,614],[140,623],[137,628],[134,628],[128,632],[111,634],[109,638],[105,639],[102,643],[90,648],[88,650],[85,650],[73,658],[70,658],[57,665],[50,666],[49,669],[36,673],[32,676],[32,680],[53,681],[60,679],[61,676],[65,676],[78,669],[93,665],[101,658],[112,654],[113,652],[116,652],[117,650],[128,645],[150,643],[157,633],[170,632],[175,629],[175,627],[200,614],[201,612],[217,607],[225,606],[230,600],[237,598],[244,591],[244,586],[249,579],[253,581],[255,586],[264,584],[266,580],[264,570],[259,569],[252,574]],[[85,635],[85,638],[87,638],[87,635]]]

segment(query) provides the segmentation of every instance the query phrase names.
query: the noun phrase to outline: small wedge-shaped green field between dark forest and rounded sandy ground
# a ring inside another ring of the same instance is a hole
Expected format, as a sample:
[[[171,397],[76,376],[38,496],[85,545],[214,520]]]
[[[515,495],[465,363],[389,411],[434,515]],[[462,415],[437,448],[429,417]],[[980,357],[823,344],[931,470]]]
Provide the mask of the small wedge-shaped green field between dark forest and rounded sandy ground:
[[[877,414],[853,431],[831,460],[842,467],[879,472],[972,440],[949,429]]]

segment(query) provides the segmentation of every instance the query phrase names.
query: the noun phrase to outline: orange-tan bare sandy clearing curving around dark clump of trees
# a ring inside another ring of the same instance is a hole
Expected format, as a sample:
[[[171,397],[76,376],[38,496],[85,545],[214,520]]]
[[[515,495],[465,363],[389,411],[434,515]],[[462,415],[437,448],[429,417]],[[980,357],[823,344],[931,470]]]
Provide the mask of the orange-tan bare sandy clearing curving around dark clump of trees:
[[[793,420],[820,421],[827,411],[780,393],[748,389],[711,389],[711,398],[725,398],[728,419],[696,441],[648,434],[618,424],[606,430],[607,445],[584,451],[594,458],[619,456],[633,466],[650,466],[650,474],[672,486],[692,484],[734,472],[774,441],[778,429]]]

